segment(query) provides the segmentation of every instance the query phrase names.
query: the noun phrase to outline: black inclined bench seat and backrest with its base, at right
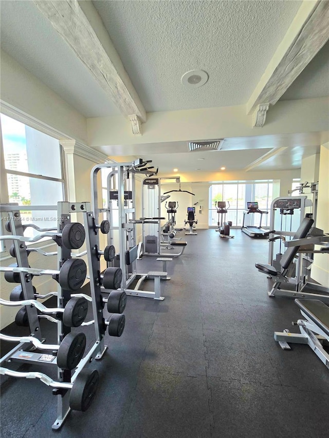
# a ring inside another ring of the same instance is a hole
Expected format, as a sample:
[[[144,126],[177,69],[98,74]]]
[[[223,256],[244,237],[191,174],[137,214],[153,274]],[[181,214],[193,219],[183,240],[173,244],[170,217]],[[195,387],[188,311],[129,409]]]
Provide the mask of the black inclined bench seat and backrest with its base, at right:
[[[298,227],[298,230],[296,231],[293,240],[303,239],[305,238],[310,229],[312,228],[314,223],[313,219],[310,218],[304,218],[301,222],[301,224]],[[275,237],[275,239],[282,238],[282,236]],[[290,242],[292,242],[291,240]],[[297,290],[298,285],[296,285],[296,291],[289,291],[285,289],[281,289],[281,283],[289,282],[289,273],[290,269],[292,267],[292,263],[294,261],[294,258],[296,257],[297,253],[300,250],[301,245],[296,246],[288,246],[285,253],[283,254],[280,265],[281,270],[277,271],[273,266],[270,264],[262,264],[262,263],[255,263],[255,267],[261,272],[262,274],[267,274],[273,278],[276,279],[275,284],[273,285],[272,289],[268,292],[269,297],[274,296],[284,296],[289,298],[309,298],[309,299],[321,299],[324,302],[329,303],[329,295],[320,295],[315,293],[307,293],[307,292],[300,292]]]

